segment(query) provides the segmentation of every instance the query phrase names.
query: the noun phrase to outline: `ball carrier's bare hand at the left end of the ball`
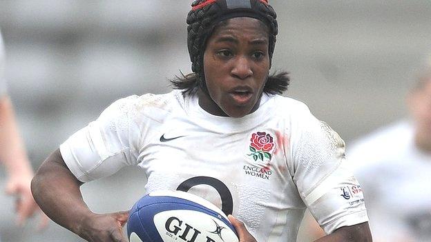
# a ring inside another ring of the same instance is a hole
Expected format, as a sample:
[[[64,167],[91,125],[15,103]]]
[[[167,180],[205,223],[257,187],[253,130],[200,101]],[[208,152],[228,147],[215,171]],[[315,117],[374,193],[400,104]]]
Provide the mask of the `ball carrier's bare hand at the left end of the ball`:
[[[82,220],[77,234],[90,242],[128,242],[123,233],[128,211],[91,214]]]

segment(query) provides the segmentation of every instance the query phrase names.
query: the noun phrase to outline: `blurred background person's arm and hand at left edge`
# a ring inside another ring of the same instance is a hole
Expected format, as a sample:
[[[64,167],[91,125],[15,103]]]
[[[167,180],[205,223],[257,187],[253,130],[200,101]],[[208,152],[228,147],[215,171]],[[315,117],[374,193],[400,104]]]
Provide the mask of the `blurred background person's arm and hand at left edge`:
[[[16,223],[23,225],[39,210],[39,206],[31,194],[30,181],[33,171],[19,135],[14,109],[6,90],[4,70],[5,52],[0,32],[0,162],[8,176],[6,193],[15,196]],[[43,214],[39,228],[45,228],[46,225],[48,225],[48,217]]]

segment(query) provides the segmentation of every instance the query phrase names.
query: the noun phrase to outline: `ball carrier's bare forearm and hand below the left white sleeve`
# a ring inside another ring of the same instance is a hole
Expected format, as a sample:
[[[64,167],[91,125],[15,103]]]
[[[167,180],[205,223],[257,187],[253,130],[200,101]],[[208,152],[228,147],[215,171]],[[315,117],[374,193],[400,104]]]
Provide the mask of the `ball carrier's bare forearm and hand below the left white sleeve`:
[[[31,188],[42,210],[56,223],[87,241],[126,242],[122,226],[128,212],[95,214],[88,208],[79,186],[83,183],[70,172],[59,150],[42,163]]]

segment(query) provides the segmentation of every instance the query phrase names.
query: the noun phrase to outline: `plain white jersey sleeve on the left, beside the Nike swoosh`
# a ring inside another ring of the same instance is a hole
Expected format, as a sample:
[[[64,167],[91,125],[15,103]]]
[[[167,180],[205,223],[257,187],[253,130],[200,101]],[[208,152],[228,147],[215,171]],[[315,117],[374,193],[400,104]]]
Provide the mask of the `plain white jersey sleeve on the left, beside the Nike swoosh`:
[[[137,163],[140,129],[135,122],[139,97],[119,99],[60,145],[61,156],[79,181],[114,174]]]

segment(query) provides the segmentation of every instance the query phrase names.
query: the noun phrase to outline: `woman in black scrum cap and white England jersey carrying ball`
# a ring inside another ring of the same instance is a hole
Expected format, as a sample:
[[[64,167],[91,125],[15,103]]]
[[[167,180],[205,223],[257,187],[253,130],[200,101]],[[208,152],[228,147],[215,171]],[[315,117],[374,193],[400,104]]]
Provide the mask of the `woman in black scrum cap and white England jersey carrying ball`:
[[[329,234],[371,241],[344,142],[269,76],[276,13],[266,0],[199,0],[187,18],[193,73],[178,90],[120,99],[41,165],[32,191],[60,225],[88,241],[126,241],[127,212],[94,214],[79,185],[138,165],[146,192],[184,190],[219,205],[240,241],[296,241],[305,208]],[[240,222],[242,221],[242,222]]]

